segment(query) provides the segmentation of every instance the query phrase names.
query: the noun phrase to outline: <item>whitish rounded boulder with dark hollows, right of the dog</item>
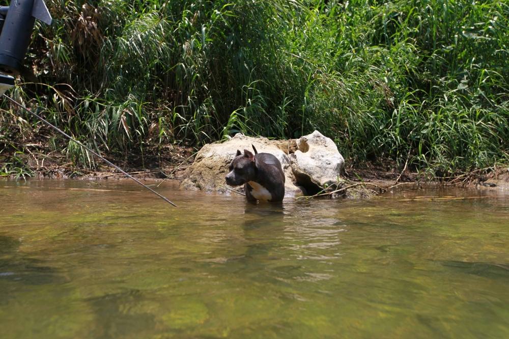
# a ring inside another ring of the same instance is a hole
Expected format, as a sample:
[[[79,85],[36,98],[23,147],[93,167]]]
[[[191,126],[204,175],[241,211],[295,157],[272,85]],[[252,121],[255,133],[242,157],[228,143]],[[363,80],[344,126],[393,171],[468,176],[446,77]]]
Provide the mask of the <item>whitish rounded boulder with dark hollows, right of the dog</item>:
[[[309,193],[343,182],[340,175],[345,160],[330,138],[314,131],[302,136],[297,144],[298,150],[290,157],[292,172]]]

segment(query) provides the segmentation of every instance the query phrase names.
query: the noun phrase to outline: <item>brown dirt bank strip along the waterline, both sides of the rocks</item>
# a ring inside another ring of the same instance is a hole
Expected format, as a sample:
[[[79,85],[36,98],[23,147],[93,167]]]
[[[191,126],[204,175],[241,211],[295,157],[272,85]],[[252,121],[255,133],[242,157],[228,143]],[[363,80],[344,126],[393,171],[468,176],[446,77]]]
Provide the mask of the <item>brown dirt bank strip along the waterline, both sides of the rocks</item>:
[[[83,168],[69,161],[65,154],[59,152],[43,153],[34,145],[34,152],[19,159],[24,167],[19,173],[2,174],[0,179],[80,179],[80,180],[117,180],[125,178],[115,168],[95,159],[95,168]],[[43,151],[43,150],[41,150]],[[108,160],[117,164],[138,179],[177,179],[183,180],[185,170],[193,163],[196,148],[175,145],[164,145],[152,148],[144,154],[106,153]],[[6,161],[7,158],[1,159]],[[422,172],[402,171],[392,161],[363,162],[352,164],[345,161],[344,177],[353,183],[372,183],[384,188],[419,187],[422,184],[471,187],[482,190],[509,190],[509,165],[496,166],[467,173],[458,173],[448,177],[433,177]]]

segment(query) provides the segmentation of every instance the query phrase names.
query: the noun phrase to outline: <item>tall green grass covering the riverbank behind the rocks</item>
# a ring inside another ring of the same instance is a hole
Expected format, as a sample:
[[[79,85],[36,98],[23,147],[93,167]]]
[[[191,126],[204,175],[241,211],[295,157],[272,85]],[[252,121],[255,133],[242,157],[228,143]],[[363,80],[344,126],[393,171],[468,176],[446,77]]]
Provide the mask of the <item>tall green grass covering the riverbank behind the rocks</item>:
[[[439,175],[509,159],[506,2],[47,3],[27,58],[42,84],[11,94],[98,150],[318,129],[350,161]]]

